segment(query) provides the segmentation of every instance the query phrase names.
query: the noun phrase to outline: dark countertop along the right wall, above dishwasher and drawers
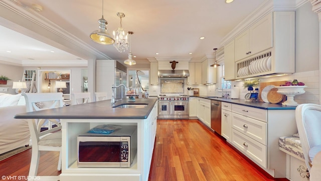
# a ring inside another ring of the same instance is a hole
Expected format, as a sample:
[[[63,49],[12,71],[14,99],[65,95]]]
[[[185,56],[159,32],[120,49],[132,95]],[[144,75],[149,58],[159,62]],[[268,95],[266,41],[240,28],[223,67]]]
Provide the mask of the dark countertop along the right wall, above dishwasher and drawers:
[[[296,107],[294,106],[283,106],[282,104],[271,104],[271,103],[263,103],[263,102],[252,102],[249,100],[243,99],[227,99],[227,98],[209,98],[209,96],[190,96],[190,97],[199,97],[205,98],[209,100],[216,100],[226,103],[233,103],[242,106],[249,106],[258,109],[265,109],[265,110],[295,110]]]

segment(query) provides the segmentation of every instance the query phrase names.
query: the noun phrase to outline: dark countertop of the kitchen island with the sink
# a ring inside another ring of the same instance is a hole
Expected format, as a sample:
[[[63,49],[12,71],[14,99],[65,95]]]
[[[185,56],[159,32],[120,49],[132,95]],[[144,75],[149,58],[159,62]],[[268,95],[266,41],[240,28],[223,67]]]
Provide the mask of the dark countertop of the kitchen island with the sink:
[[[156,99],[127,99],[117,101],[115,106],[122,104],[148,104],[145,108],[113,108],[110,100],[66,106],[30,113],[22,113],[15,118],[22,119],[146,119],[151,112]]]

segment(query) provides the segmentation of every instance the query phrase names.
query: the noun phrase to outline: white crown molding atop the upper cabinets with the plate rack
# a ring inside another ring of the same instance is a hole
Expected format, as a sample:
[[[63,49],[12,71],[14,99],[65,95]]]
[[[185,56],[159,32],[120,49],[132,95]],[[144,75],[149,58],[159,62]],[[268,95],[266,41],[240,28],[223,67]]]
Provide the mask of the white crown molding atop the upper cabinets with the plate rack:
[[[303,1],[303,0],[301,0]],[[231,40],[235,39],[240,33],[244,32],[250,26],[255,24],[261,18],[273,11],[295,11],[296,2],[293,0],[266,0],[251,14],[249,14],[243,21],[241,21],[230,33],[228,33],[221,41],[224,46]]]

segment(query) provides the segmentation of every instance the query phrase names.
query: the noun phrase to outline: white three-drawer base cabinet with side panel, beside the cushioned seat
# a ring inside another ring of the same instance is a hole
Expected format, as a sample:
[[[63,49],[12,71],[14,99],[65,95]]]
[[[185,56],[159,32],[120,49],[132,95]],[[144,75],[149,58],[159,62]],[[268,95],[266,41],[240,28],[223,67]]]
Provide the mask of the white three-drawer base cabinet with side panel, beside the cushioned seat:
[[[286,177],[286,155],[279,150],[278,139],[297,132],[295,110],[231,107],[231,144],[273,177]]]

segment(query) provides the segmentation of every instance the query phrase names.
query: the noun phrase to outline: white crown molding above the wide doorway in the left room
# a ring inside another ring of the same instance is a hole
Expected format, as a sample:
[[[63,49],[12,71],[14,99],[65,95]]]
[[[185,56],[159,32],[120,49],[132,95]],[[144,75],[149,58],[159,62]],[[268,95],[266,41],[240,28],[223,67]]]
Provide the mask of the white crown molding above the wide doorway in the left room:
[[[40,60],[23,60],[22,66],[54,66],[54,67],[88,67],[87,60],[55,60],[55,61],[40,61]]]

